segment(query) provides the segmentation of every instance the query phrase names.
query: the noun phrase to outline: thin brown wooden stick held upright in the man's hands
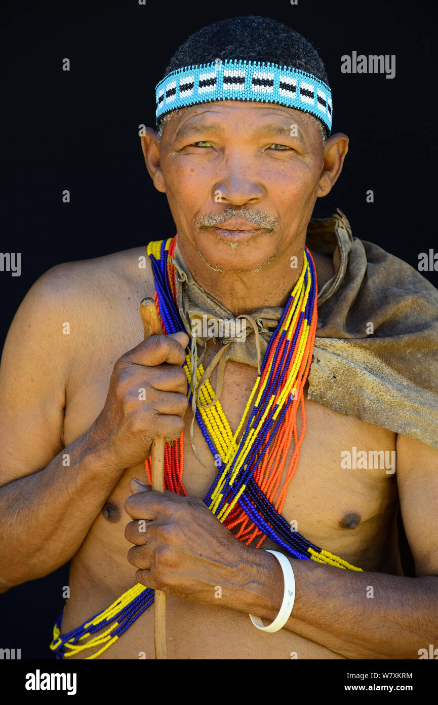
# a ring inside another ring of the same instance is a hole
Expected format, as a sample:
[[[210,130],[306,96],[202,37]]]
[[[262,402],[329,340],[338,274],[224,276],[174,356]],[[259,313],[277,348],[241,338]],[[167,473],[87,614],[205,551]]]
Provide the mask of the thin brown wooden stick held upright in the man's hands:
[[[163,333],[154,299],[145,298],[140,302],[140,316],[144,326],[144,337]],[[152,442],[151,448],[152,489],[164,491],[164,439],[160,436]],[[165,641],[165,592],[155,591],[154,600],[154,644],[155,658],[167,658]]]

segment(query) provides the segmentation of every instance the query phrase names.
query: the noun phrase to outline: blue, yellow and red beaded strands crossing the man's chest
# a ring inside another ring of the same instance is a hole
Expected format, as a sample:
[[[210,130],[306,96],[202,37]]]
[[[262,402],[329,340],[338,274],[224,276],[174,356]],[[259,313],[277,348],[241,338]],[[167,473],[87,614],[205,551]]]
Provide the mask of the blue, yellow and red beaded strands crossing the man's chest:
[[[171,262],[175,245],[176,236],[150,243],[147,249],[156,285],[154,299],[165,333],[184,329],[176,305],[175,266]],[[270,537],[294,558],[361,570],[311,544],[281,515],[306,431],[304,385],[311,365],[318,319],[316,298],[315,265],[306,247],[303,269],[270,339],[261,372],[234,434],[220,402],[213,403],[215,392],[210,381],[202,381],[204,367],[201,363],[196,366],[196,384],[192,385],[192,352],[187,348],[183,368],[187,384],[192,388],[190,398],[193,394],[199,398],[196,420],[218,467],[218,474],[204,502],[228,529],[240,525],[234,535],[247,545],[257,539],[256,548],[259,548],[265,538]],[[296,427],[299,405],[303,419],[301,434]],[[285,470],[287,449],[292,441],[294,450]],[[145,460],[145,467],[151,482],[150,458]],[[175,443],[166,443],[165,446],[165,487],[187,496],[182,483],[183,469],[182,434]],[[96,658],[120,638],[153,601],[154,590],[134,585],[106,610],[66,635],[61,635],[61,614],[54,627],[50,648],[56,652],[56,658],[63,658],[102,645],[95,654],[87,657]],[[92,637],[106,625],[111,626]],[[83,643],[83,639],[88,641]]]

